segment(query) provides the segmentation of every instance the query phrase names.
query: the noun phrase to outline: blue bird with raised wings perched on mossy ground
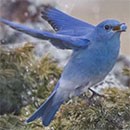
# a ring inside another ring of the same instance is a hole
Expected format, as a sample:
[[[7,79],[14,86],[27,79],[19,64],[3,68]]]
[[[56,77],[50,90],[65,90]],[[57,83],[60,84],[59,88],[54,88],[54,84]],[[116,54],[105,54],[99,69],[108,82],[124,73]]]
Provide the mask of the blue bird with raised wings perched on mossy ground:
[[[49,40],[60,49],[73,53],[48,99],[26,120],[41,118],[48,126],[60,106],[73,96],[79,96],[102,81],[116,63],[120,49],[120,34],[126,31],[125,23],[108,19],[97,26],[80,21],[46,6],[42,12],[55,33],[28,28],[0,18],[0,22],[33,37]]]

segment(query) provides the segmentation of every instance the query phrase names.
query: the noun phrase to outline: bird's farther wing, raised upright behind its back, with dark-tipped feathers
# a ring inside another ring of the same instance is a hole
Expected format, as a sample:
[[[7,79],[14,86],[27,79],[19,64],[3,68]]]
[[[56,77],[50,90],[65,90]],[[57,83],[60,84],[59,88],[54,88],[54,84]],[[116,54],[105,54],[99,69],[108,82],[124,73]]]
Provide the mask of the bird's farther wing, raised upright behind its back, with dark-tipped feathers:
[[[73,18],[60,10],[44,6],[42,11],[42,18],[45,19],[55,31],[70,30],[84,28],[85,30],[91,30],[95,28],[93,25]]]

